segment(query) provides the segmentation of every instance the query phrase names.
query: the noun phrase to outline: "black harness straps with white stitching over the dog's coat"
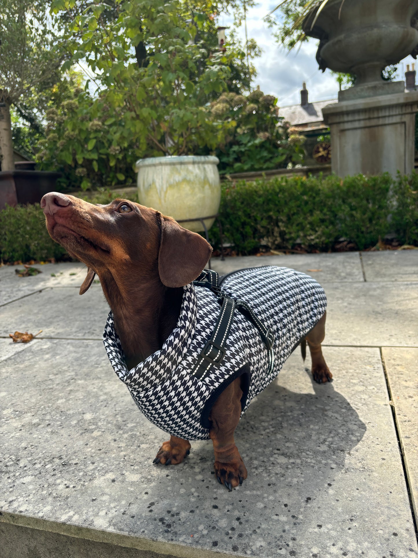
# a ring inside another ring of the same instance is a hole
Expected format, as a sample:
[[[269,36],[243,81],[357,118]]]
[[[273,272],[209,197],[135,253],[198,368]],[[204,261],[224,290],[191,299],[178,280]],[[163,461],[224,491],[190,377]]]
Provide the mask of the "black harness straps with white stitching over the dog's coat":
[[[259,331],[261,339],[268,350],[269,367],[267,373],[269,374],[273,369],[274,363],[273,331],[266,328],[263,323],[261,323],[259,318],[257,318],[246,302],[239,299],[233,299],[221,290],[219,286],[219,277],[215,271],[203,270],[196,281],[193,281],[193,285],[210,288],[210,290],[218,297],[221,304],[221,313],[216,322],[211,338],[207,341],[205,347],[203,347],[196,366],[193,368],[192,374],[201,379],[209,372],[212,364],[219,364],[222,362],[226,352],[225,341],[231,330],[235,309],[239,310],[241,314],[250,320]]]

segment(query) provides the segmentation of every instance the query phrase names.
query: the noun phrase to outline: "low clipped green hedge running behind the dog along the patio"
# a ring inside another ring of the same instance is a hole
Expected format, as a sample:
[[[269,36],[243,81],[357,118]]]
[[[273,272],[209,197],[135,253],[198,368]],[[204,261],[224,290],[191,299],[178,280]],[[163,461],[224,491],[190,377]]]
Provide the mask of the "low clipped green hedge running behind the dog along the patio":
[[[109,203],[111,191],[91,203]],[[85,198],[87,199],[87,198]],[[418,246],[418,175],[291,177],[222,185],[220,220],[226,239],[241,254],[260,247],[329,251],[341,238],[360,250],[395,234]],[[216,225],[212,246],[219,246]],[[0,211],[0,253],[4,262],[65,258],[45,228],[38,204]]]

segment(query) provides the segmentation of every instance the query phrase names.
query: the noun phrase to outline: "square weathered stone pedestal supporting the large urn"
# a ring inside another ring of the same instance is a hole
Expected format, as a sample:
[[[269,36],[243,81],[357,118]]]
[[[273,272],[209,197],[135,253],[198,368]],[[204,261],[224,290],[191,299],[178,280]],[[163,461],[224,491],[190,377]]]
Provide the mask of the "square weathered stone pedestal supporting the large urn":
[[[418,92],[381,95],[327,105],[332,171],[338,176],[414,169]]]

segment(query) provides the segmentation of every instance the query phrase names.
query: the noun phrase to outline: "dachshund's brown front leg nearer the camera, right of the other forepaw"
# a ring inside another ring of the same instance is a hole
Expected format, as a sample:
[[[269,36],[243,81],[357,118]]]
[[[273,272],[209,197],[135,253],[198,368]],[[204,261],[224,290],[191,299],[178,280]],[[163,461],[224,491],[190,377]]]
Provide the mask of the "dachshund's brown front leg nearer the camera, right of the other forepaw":
[[[241,397],[241,378],[237,378],[221,393],[209,415],[215,475],[228,490],[247,478],[247,469],[234,441],[234,431],[241,416]]]

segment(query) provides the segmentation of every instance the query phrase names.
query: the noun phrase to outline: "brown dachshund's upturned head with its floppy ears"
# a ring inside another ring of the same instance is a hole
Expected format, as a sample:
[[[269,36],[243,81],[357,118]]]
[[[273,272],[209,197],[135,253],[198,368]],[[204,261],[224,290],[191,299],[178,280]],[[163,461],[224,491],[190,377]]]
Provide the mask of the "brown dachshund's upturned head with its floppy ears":
[[[51,238],[89,268],[80,294],[95,273],[117,276],[120,270],[140,270],[145,277],[158,275],[167,287],[182,287],[200,275],[212,252],[200,234],[133,201],[93,205],[51,192],[41,207]]]

